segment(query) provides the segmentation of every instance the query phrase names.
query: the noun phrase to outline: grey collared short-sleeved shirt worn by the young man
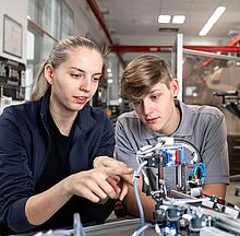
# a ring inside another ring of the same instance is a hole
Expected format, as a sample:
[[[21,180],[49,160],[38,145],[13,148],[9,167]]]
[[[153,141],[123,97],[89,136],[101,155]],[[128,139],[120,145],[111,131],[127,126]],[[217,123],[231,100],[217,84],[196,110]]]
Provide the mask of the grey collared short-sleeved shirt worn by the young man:
[[[176,106],[181,110],[181,122],[171,137],[185,140],[199,150],[206,166],[205,184],[229,184],[224,114],[215,107],[185,105],[177,99]],[[137,169],[136,152],[142,146],[155,145],[159,137],[164,135],[149,130],[134,110],[122,114],[116,123],[116,158]],[[172,167],[165,167],[165,180],[170,189],[175,188],[172,172]]]

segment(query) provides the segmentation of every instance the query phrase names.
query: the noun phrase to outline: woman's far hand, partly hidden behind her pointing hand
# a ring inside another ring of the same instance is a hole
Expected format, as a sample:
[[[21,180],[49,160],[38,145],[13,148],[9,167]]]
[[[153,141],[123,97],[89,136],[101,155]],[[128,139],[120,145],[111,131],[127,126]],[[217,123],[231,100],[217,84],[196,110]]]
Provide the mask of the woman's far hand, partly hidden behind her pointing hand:
[[[94,168],[99,168],[99,167],[116,167],[116,168],[120,168],[120,167],[128,167],[127,164],[119,162],[115,158],[108,157],[108,156],[98,156],[94,160]],[[108,178],[109,184],[113,184],[112,182],[112,178],[116,180],[116,184],[119,186],[121,186],[121,192],[119,194],[119,199],[122,200],[129,190],[129,185],[133,185],[132,182],[132,174],[128,174],[128,175],[121,175],[121,182],[120,180],[118,180],[119,176],[115,175],[113,177],[111,176],[111,179]],[[116,184],[112,185],[116,186]]]

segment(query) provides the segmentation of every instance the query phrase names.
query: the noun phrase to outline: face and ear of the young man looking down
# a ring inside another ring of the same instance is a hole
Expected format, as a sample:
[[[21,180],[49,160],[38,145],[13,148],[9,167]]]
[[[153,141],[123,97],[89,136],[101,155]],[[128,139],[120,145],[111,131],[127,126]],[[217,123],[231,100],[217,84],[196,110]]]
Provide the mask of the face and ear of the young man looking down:
[[[135,111],[151,130],[169,135],[176,125],[173,98],[177,93],[177,80],[171,81],[170,88],[159,82],[152,87],[148,94],[133,101]]]

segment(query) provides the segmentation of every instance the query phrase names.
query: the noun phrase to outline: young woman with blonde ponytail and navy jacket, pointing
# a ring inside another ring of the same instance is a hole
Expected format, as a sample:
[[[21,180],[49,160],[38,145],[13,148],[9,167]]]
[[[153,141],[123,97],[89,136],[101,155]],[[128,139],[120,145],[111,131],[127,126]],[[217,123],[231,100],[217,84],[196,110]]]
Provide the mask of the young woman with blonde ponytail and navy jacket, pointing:
[[[0,116],[0,234],[104,222],[132,169],[112,156],[113,130],[94,96],[105,54],[91,40],[59,42],[39,69],[33,99]],[[121,184],[122,186],[122,184]]]

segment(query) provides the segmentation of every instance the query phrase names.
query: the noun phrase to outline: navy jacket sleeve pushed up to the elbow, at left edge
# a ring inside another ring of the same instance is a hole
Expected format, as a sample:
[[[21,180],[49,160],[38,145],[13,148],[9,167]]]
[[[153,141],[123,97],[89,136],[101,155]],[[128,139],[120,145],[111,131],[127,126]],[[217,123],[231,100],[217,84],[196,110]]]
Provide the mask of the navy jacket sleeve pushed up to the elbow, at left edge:
[[[25,203],[33,193],[29,160],[13,110],[0,116],[0,225],[15,233],[34,227],[25,216]]]

